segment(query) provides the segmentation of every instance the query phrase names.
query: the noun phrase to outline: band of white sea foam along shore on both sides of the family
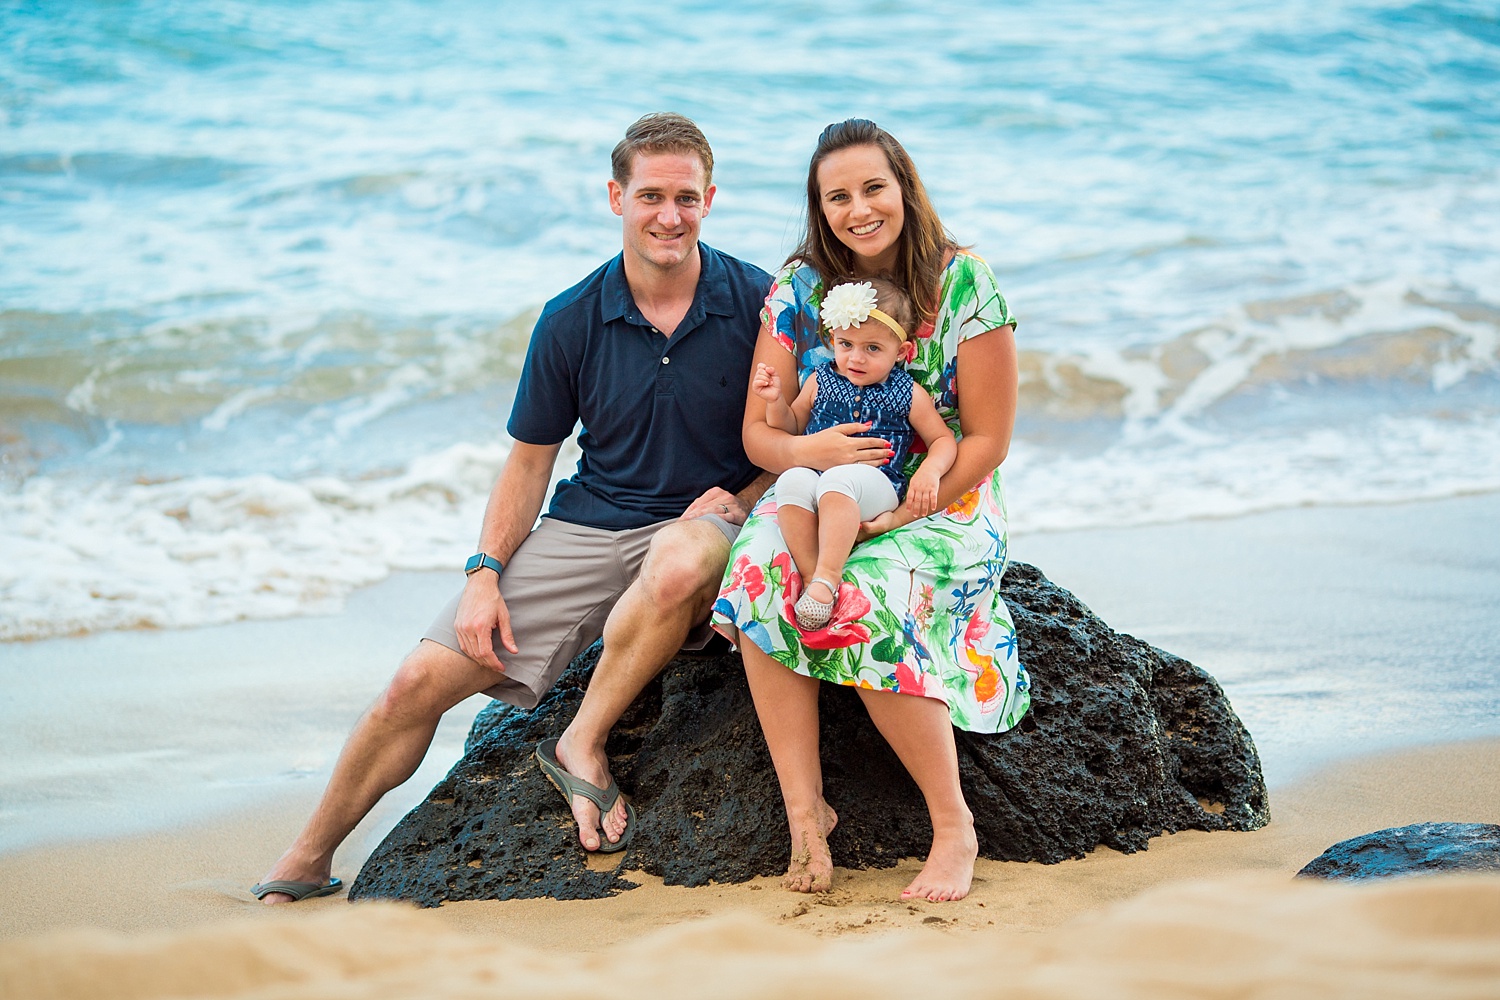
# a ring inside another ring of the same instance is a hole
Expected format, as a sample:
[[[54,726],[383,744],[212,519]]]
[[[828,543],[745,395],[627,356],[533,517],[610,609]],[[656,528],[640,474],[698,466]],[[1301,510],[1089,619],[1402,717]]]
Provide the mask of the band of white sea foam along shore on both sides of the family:
[[[504,456],[454,445],[369,480],[33,477],[0,495],[0,639],[327,613],[393,570],[453,568]],[[1005,472],[1017,531],[1430,499],[1500,490],[1500,414],[1122,438],[1083,456],[1020,439]]]

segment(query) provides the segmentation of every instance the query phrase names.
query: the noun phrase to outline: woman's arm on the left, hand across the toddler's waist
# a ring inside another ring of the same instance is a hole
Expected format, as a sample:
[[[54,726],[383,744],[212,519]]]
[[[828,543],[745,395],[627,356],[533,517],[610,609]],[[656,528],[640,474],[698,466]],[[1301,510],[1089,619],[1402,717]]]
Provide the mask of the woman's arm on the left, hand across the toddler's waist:
[[[782,379],[782,396],[788,405],[800,397],[796,385],[796,360],[771,336],[770,328],[760,328],[756,340],[754,363],[772,369]],[[891,442],[884,438],[855,438],[868,430],[867,423],[850,423],[819,430],[814,435],[792,435],[771,426],[766,420],[766,402],[754,391],[754,375],[746,393],[746,418],[742,435],[746,454],[768,472],[786,472],[790,468],[831,469],[836,465],[880,465],[891,456]],[[804,417],[806,420],[806,417]]]

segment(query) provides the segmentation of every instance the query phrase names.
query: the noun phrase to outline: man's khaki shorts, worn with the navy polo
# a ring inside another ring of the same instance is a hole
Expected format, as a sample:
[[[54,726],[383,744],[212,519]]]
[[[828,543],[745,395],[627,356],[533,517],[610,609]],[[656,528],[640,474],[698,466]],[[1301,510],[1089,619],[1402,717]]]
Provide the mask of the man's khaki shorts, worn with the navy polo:
[[[740,534],[738,525],[717,514],[698,520],[712,523],[730,543]],[[573,657],[604,634],[604,621],[639,576],[651,540],[675,523],[663,520],[645,528],[606,531],[543,517],[510,556],[501,577],[501,594],[520,652],[512,654],[501,643],[500,631],[494,633],[495,655],[506,664],[506,673],[484,694],[519,708],[536,708]],[[438,612],[423,639],[464,652],[453,631],[462,595],[460,589]],[[682,649],[702,649],[711,636],[708,622],[700,622],[688,633]]]

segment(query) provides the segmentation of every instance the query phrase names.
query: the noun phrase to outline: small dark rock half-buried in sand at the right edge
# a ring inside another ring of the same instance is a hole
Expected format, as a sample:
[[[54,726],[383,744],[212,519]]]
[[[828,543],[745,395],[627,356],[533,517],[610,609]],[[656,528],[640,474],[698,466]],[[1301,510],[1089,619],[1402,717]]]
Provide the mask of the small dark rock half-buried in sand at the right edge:
[[[1500,871],[1500,826],[1413,823],[1341,840],[1299,879],[1390,879],[1438,871]]]

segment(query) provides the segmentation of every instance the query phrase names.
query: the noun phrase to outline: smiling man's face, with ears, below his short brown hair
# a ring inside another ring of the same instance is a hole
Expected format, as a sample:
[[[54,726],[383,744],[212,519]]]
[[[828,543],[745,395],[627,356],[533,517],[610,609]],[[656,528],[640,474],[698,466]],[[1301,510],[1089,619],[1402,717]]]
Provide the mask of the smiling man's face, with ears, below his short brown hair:
[[[704,162],[692,153],[636,153],[624,187],[609,181],[609,207],[624,219],[626,252],[660,270],[692,261],[714,201],[706,180]]]

